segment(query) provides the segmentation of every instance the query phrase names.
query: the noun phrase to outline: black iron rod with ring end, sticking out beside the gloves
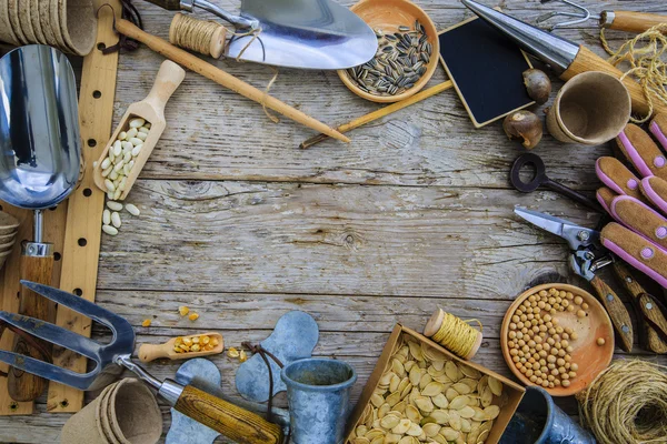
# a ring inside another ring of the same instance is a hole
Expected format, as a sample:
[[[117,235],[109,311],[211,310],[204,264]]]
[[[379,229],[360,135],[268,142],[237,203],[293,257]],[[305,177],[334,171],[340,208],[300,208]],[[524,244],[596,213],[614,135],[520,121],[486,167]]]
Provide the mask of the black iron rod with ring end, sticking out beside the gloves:
[[[520,178],[521,169],[525,165],[535,167],[535,178],[532,178],[530,182],[524,182]],[[509,181],[514,188],[522,193],[531,193],[540,186],[546,186],[551,191],[556,191],[557,193],[570,198],[571,200],[577,201],[594,211],[597,211],[598,213],[604,213],[603,208],[593,199],[587,198],[571,188],[565,186],[563,183],[558,183],[549,179],[547,176],[545,162],[537,154],[525,153],[519,155],[511,165]]]

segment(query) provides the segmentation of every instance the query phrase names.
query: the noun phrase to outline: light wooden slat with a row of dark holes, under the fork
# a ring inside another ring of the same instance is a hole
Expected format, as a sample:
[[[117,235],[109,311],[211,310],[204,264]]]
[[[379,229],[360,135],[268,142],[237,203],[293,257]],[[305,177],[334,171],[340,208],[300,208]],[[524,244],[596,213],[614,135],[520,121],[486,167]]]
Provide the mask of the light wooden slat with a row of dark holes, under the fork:
[[[84,172],[79,188],[69,198],[60,279],[62,290],[88,301],[94,301],[104,205],[104,193],[94,185],[92,179],[92,162],[99,158],[111,134],[118,70],[118,52],[104,56],[100,50],[101,44],[111,47],[118,42],[113,31],[113,14],[120,16],[120,2],[107,2],[113,7],[113,11],[110,8],[99,10],[98,48],[83,60],[79,119],[84,145]],[[91,321],[71,310],[60,306],[56,323],[90,336]],[[86,372],[86,359],[63,349],[53,351],[53,363],[74,372]],[[57,383],[49,385],[49,412],[78,412],[82,406],[83,392]]]

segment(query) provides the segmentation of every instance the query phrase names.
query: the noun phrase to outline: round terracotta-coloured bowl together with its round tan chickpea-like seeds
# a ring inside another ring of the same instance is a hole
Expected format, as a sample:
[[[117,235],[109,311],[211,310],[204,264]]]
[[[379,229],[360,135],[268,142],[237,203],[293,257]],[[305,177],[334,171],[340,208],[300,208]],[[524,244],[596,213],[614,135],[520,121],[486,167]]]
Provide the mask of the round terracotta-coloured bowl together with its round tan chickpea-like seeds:
[[[531,331],[536,325],[538,332]],[[531,381],[538,371],[541,379],[542,370],[547,367],[546,379],[554,369],[567,363],[566,386],[541,386],[551,396],[570,396],[586,389],[611,362],[614,326],[605,307],[587,291],[568,284],[544,284],[521,293],[507,310],[500,329],[500,347],[507,365],[525,385],[541,385],[539,381]],[[566,347],[568,351],[551,354],[555,347],[558,352]],[[539,359],[535,359],[535,354]],[[519,365],[517,359],[526,362],[519,361]],[[540,362],[542,359],[545,362]],[[538,366],[535,366],[536,362]],[[571,371],[576,372],[575,376],[569,376]],[[563,374],[551,376],[565,382]]]

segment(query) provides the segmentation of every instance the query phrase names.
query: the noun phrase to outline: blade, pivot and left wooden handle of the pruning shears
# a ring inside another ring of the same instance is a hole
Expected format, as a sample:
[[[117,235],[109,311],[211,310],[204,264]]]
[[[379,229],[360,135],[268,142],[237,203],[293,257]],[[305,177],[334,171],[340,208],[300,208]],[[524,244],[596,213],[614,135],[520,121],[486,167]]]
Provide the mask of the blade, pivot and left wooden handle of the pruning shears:
[[[614,330],[620,337],[620,347],[626,352],[633,350],[633,322],[628,310],[618,295],[596,272],[615,262],[611,253],[603,246],[599,231],[574,224],[564,219],[521,208],[515,213],[535,226],[565,239],[571,250],[570,268],[594,286],[598,299],[611,319]]]

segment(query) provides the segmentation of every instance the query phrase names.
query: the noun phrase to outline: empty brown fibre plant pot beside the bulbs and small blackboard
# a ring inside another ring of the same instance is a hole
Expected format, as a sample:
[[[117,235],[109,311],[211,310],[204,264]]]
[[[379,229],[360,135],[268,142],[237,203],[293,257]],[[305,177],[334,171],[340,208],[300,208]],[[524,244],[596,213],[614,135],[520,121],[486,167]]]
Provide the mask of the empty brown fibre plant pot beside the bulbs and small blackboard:
[[[599,145],[623,131],[630,112],[630,94],[620,80],[600,71],[584,72],[558,92],[547,128],[561,142]]]

